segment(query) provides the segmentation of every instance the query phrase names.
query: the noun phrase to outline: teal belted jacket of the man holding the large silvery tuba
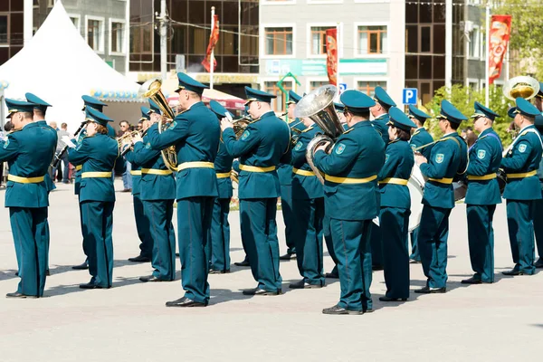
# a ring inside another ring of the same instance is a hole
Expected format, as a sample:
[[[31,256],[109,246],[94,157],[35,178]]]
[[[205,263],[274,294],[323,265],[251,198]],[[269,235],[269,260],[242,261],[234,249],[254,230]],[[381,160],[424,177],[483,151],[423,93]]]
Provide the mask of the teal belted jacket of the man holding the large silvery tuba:
[[[327,176],[366,178],[377,176],[385,164],[385,142],[369,121],[355,124],[339,136],[327,155],[315,153],[314,163]],[[327,216],[339,220],[371,220],[379,213],[377,179],[367,183],[324,184]]]

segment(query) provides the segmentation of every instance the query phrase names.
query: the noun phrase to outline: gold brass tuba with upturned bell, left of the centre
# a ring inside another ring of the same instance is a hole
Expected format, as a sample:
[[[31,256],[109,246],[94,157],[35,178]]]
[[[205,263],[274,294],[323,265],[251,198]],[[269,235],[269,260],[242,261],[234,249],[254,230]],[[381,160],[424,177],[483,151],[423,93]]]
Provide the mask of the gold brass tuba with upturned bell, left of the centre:
[[[158,108],[162,110],[162,114],[167,117],[167,119],[173,120],[176,118],[176,115],[174,114],[174,110],[172,110],[167,104],[167,99],[162,93],[162,90],[160,90],[160,87],[162,87],[162,81],[160,79],[151,79],[146,81],[141,85],[141,87],[139,87],[138,94],[140,97],[154,100],[155,103],[157,103]],[[169,126],[170,121],[161,118],[158,121],[158,133],[164,132]],[[168,148],[165,148],[160,151],[160,154],[162,155],[162,159],[164,160],[164,164],[166,165],[166,167],[172,171],[177,171],[176,147],[170,146]]]

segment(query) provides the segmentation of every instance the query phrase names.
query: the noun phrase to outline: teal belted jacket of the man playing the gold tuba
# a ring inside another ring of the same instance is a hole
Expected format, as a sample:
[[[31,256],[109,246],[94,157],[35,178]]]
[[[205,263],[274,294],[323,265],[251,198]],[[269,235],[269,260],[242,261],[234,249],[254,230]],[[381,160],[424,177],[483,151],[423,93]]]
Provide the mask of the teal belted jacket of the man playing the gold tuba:
[[[177,163],[211,162],[217,156],[221,128],[212,110],[198,102],[176,115],[168,129],[158,134],[157,128],[148,130],[148,142],[152,149],[162,150],[175,146]],[[177,172],[176,199],[195,196],[218,196],[217,177],[214,168],[194,167]]]

